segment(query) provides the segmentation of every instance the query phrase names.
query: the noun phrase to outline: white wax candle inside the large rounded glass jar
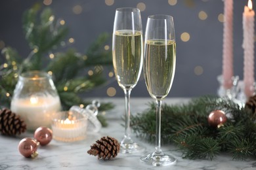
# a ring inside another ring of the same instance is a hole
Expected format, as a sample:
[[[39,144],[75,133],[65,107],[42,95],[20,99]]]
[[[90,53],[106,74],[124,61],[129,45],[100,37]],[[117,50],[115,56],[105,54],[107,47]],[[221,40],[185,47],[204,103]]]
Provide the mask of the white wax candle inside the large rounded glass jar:
[[[59,97],[32,96],[26,99],[14,99],[11,110],[26,122],[27,129],[34,130],[40,126],[51,126],[52,115],[61,109]]]

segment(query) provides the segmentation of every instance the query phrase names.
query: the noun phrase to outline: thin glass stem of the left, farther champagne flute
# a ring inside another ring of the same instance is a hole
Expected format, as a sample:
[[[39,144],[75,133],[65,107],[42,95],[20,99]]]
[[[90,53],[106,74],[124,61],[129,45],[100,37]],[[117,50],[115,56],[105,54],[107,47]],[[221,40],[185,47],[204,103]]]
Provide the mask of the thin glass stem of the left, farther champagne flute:
[[[131,140],[130,134],[131,134],[131,129],[130,129],[130,94],[131,94],[131,89],[125,89],[125,138],[127,140]]]

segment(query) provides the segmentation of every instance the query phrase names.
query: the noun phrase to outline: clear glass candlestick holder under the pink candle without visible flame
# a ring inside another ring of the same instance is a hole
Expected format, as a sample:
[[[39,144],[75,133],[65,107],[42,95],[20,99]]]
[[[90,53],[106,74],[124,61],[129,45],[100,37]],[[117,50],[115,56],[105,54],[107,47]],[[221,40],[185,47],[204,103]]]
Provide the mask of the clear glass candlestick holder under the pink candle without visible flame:
[[[238,85],[238,80],[239,77],[238,76],[232,76],[231,81],[232,83],[232,87],[231,88],[224,88],[224,79],[222,75],[217,76],[217,80],[219,81],[219,89],[217,90],[217,94],[219,95],[219,97],[224,97],[227,99],[234,99],[236,97],[236,86]]]

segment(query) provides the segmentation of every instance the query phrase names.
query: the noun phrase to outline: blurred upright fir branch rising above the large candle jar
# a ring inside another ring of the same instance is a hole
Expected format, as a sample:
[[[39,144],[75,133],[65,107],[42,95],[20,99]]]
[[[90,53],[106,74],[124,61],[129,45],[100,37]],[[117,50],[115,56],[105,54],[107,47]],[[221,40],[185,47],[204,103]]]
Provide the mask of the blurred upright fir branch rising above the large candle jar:
[[[68,29],[64,25],[55,27],[53,11],[45,8],[40,15],[40,22],[37,20],[37,15],[41,5],[36,4],[31,9],[26,10],[23,15],[23,28],[26,33],[26,39],[29,42],[30,48],[33,50],[33,58],[30,58],[32,65],[27,65],[25,70],[41,70],[43,67],[43,58],[46,52],[56,48],[64,41],[64,37],[68,34]]]

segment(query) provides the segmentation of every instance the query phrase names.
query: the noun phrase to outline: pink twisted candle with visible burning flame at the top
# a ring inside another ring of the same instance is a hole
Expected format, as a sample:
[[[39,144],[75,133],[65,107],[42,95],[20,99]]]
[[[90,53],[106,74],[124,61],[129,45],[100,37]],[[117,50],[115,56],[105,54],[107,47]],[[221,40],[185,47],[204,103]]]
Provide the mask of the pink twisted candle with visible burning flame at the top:
[[[253,5],[249,0],[243,13],[244,41],[242,44],[244,48],[244,92],[247,97],[254,93],[254,15]]]

